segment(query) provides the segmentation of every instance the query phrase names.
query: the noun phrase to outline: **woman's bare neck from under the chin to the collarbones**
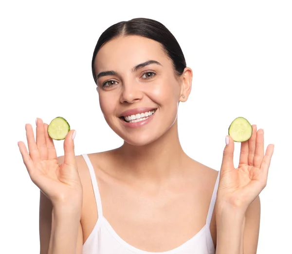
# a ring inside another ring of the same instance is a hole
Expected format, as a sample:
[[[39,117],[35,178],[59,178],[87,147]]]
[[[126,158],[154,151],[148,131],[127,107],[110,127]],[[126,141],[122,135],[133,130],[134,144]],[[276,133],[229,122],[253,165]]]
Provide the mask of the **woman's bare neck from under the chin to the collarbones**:
[[[116,152],[121,172],[152,182],[181,174],[183,159],[187,157],[179,141],[177,121],[158,140],[143,146],[124,143]]]

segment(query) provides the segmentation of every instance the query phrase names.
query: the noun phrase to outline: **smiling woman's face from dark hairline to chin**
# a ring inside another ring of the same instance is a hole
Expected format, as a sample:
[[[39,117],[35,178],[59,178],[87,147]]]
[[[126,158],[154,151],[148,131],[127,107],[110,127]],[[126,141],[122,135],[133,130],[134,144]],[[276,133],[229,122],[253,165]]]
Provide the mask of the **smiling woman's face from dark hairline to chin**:
[[[107,42],[97,53],[94,68],[104,117],[131,145],[160,138],[175,123],[178,103],[190,91],[190,87],[185,91],[185,78],[175,76],[162,46],[142,36]],[[191,71],[187,76],[191,79]]]

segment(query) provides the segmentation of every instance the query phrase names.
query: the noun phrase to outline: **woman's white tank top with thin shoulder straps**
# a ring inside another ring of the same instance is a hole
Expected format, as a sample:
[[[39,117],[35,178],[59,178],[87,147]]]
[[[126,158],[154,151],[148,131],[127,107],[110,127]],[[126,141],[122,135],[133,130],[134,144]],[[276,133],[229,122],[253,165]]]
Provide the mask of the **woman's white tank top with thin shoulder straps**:
[[[210,232],[210,222],[217,197],[219,174],[213,190],[206,224],[201,230],[175,249],[165,252],[146,252],[131,246],[118,236],[109,221],[103,216],[102,203],[93,166],[87,154],[82,154],[82,156],[90,171],[98,212],[98,219],[90,236],[83,245],[82,254],[215,254],[215,247]]]

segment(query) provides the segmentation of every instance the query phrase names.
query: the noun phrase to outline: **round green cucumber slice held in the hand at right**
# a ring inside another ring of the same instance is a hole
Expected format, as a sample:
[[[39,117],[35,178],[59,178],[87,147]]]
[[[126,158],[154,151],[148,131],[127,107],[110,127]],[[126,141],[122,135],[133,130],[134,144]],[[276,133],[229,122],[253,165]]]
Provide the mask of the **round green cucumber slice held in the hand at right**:
[[[253,127],[244,117],[237,117],[228,128],[228,135],[234,142],[244,142],[251,138]]]

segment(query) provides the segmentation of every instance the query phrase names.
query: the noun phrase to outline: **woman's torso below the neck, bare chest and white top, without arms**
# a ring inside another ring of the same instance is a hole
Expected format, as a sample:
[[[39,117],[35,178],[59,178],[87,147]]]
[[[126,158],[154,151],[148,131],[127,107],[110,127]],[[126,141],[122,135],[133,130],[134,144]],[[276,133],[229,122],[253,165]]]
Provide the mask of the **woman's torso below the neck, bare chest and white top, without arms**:
[[[121,248],[116,254],[170,254],[176,253],[174,250],[183,253],[181,246],[192,248],[191,245],[198,245],[196,241],[205,241],[200,237],[206,237],[207,243],[203,244],[212,244],[212,253],[213,242],[216,246],[215,216],[210,217],[210,225],[206,219],[218,171],[189,159],[184,173],[176,181],[145,184],[113,176],[107,170],[110,152],[89,154],[88,158],[94,169],[93,178],[97,180],[102,215],[97,213],[88,164],[78,156],[84,189],[81,218],[84,254],[91,254],[86,249],[93,248],[89,246],[94,244],[93,239],[99,241],[100,246],[109,244]]]

